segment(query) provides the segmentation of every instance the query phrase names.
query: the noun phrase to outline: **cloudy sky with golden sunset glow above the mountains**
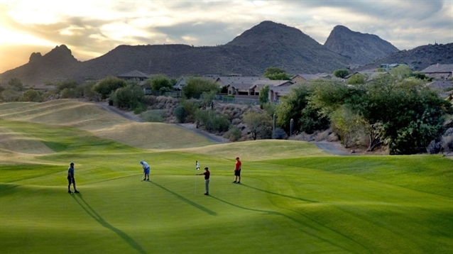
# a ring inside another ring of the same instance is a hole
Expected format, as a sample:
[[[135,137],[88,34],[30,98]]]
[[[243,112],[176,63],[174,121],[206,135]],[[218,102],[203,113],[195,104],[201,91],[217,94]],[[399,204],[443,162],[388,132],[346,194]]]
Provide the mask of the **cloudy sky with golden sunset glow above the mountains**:
[[[453,0],[0,0],[0,73],[62,44],[86,61],[118,45],[224,45],[262,21],[320,44],[337,25],[399,50],[453,43]]]

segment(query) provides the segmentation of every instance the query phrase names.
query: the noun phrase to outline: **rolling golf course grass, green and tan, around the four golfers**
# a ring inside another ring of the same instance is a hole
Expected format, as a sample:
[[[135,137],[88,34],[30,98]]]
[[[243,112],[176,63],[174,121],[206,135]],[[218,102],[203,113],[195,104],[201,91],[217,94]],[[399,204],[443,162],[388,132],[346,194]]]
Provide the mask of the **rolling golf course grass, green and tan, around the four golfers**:
[[[0,155],[0,253],[453,253],[453,160],[439,155],[218,144],[70,99],[0,104]]]

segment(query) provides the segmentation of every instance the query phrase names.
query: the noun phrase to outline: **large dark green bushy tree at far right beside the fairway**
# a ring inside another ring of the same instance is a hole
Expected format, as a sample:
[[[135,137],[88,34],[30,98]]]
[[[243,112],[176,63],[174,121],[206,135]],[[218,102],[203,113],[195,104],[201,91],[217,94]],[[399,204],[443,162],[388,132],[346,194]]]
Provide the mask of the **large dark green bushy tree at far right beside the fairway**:
[[[376,79],[370,85],[367,117],[370,123],[378,123],[378,134],[391,154],[417,153],[440,139],[450,105],[422,80],[399,77],[387,84]]]

